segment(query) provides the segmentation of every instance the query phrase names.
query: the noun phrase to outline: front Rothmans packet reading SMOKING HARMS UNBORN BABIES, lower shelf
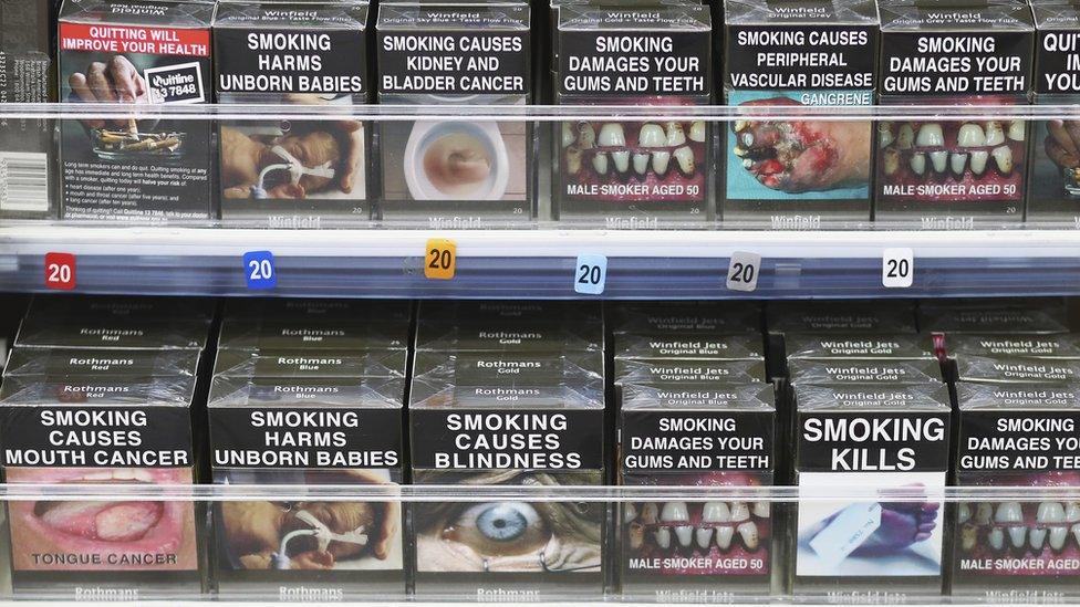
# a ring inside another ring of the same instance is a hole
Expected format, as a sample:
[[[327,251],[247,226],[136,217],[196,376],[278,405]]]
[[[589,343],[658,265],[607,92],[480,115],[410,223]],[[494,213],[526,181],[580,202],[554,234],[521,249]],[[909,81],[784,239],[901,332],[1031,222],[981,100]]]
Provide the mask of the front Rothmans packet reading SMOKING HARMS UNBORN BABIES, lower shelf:
[[[215,483],[402,482],[403,377],[224,377],[209,398]],[[224,596],[340,601],[401,593],[404,521],[391,500],[215,504]]]

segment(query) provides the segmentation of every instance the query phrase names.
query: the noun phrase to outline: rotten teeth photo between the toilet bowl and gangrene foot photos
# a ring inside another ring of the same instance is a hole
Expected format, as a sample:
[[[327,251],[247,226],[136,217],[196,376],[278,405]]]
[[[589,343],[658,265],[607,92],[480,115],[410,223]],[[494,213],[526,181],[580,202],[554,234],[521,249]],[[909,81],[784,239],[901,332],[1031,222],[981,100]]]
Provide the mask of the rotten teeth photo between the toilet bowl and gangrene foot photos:
[[[699,200],[708,126],[664,123],[562,123],[567,195],[590,200]]]

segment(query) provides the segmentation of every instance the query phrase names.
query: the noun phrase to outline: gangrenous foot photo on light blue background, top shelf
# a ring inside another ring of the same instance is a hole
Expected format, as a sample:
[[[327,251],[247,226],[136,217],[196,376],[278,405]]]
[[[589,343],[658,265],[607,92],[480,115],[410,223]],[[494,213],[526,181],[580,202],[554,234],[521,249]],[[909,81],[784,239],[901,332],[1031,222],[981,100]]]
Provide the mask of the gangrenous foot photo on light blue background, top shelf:
[[[738,105],[804,104],[777,95]],[[864,198],[869,193],[871,127],[866,122],[745,119],[733,122],[730,129],[729,191],[737,192],[737,198],[803,195],[837,199]]]

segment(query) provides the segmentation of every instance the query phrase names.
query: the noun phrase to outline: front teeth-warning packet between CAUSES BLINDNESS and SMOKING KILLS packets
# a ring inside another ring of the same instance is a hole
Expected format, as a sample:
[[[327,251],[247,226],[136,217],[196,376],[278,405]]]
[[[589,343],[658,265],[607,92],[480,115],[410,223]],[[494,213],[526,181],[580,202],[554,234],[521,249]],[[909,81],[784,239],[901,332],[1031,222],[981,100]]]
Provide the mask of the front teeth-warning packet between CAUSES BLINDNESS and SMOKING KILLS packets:
[[[620,394],[621,484],[772,484],[777,421],[771,385],[663,380],[623,385]],[[767,595],[777,582],[779,542],[769,501],[619,506],[620,582],[626,596],[730,601]]]

